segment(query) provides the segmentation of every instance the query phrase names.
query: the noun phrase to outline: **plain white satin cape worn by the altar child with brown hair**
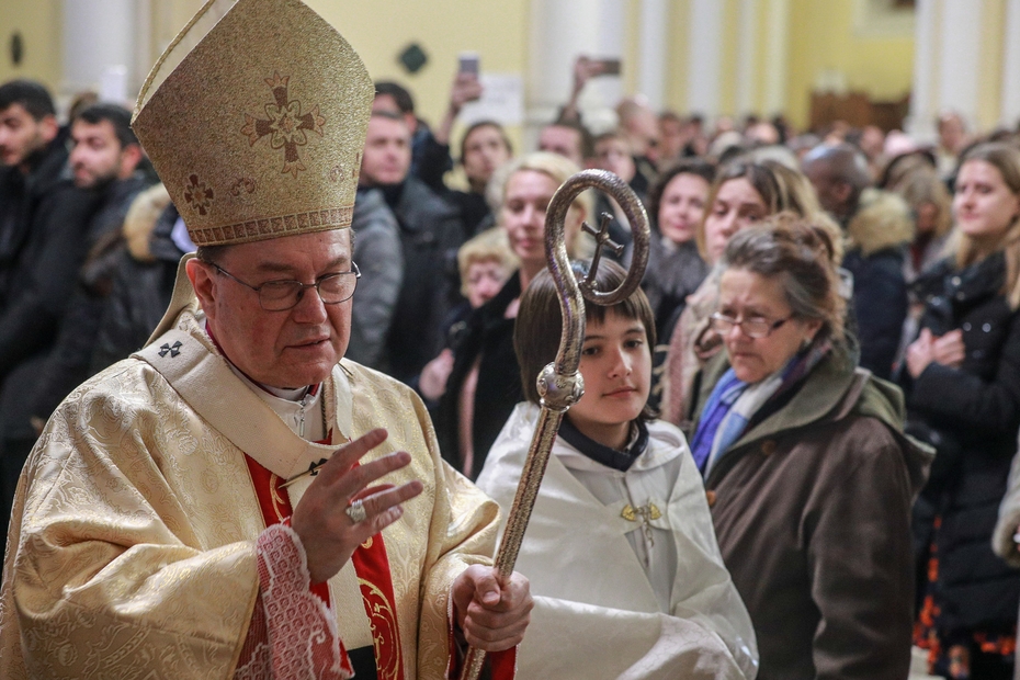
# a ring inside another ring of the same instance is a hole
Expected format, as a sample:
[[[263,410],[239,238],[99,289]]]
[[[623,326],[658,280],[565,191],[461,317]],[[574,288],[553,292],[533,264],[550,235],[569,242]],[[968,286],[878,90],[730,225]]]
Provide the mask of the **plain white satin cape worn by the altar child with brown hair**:
[[[519,404],[486,458],[478,486],[509,507],[539,418]],[[750,617],[723,565],[705,491],[683,435],[671,424],[648,423],[648,446],[627,472],[605,466],[630,489],[642,477],[680,474],[661,498],[632,498],[657,509],[650,518],[661,548],[671,534],[677,568],[668,611],[662,611],[627,540],[643,531],[624,502],[604,505],[571,473],[573,460],[598,464],[557,437],[532,511],[515,569],[531,581],[531,625],[518,651],[522,678],[752,680],[758,653]],[[639,518],[638,518],[639,520]]]

